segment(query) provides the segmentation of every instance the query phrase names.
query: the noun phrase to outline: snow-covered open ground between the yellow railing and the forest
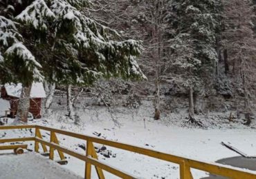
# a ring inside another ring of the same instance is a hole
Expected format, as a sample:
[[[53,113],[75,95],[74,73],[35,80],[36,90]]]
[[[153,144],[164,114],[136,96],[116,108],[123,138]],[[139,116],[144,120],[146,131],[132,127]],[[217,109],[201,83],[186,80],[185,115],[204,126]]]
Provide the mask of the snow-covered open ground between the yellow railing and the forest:
[[[30,121],[30,124],[46,125],[50,127],[75,131],[90,136],[99,136],[109,140],[116,140],[122,143],[138,145],[157,151],[163,151],[168,154],[174,154],[196,160],[214,162],[221,158],[237,156],[236,153],[226,149],[220,143],[226,141],[244,151],[249,156],[256,156],[256,130],[254,127],[245,127],[244,125],[225,124],[224,127],[213,127],[208,129],[196,129],[188,127],[179,127],[175,124],[164,121],[155,121],[147,118],[149,111],[138,110],[132,115],[127,115],[126,109],[120,108],[114,119],[107,109],[86,109],[80,112],[81,125],[74,125],[74,122],[68,120],[60,113],[53,113],[48,118]],[[127,109],[128,110],[128,109]],[[216,114],[214,114],[216,115]],[[219,115],[219,114],[217,114]],[[225,114],[227,115],[227,114]],[[143,120],[145,116],[145,123]],[[172,119],[169,119],[172,120]],[[213,120],[213,119],[212,119]],[[174,119],[178,121],[178,118]],[[178,122],[177,122],[178,123]],[[235,127],[235,129],[230,129]],[[42,131],[44,138],[49,139],[49,133]],[[6,131],[6,134],[0,131],[0,138],[10,138],[14,136],[33,136],[29,130]],[[2,136],[2,137],[1,137]],[[75,138],[57,135],[61,145],[85,154],[84,149],[79,147],[84,145],[85,141]],[[95,144],[96,147],[101,147]],[[33,149],[33,145],[29,145]],[[121,149],[107,147],[111,155],[106,157],[106,152],[98,154],[101,161],[107,162],[122,171],[127,171],[141,178],[179,178],[179,166],[170,162],[164,162],[154,158],[149,158],[140,154],[134,154]],[[55,154],[57,158],[57,153]],[[84,162],[71,156],[67,156],[68,165],[64,167],[74,171],[80,176],[84,176]],[[198,170],[192,170],[194,178],[208,176],[208,173]],[[105,173],[106,178],[116,178],[109,173]],[[93,178],[96,178],[93,171]]]

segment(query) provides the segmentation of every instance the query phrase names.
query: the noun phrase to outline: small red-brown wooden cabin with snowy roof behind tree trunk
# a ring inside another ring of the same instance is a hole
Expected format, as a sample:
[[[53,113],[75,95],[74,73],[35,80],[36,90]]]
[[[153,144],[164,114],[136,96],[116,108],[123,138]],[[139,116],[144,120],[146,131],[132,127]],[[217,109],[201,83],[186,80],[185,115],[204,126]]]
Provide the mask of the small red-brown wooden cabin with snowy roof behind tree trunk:
[[[8,100],[10,102],[10,111],[15,111],[15,114],[18,109],[19,98],[21,96],[21,83],[7,84],[1,87],[1,98]],[[44,91],[43,83],[33,83],[31,92],[30,92],[30,108],[29,112],[33,114],[34,118],[41,118],[42,110],[42,99],[46,98],[46,93]],[[14,116],[11,114],[10,116]]]

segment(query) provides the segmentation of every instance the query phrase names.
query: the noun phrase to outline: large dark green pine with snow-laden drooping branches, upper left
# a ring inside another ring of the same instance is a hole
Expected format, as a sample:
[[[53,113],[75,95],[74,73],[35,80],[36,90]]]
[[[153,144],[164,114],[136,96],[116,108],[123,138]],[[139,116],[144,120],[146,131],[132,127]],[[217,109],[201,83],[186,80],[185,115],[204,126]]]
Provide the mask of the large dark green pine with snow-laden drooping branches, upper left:
[[[1,66],[10,69],[6,81],[30,89],[43,80],[90,85],[102,77],[145,78],[136,62],[140,42],[122,40],[87,17],[88,6],[86,0],[1,0],[0,15],[10,18],[12,33],[0,23],[0,34],[15,36],[1,49]]]

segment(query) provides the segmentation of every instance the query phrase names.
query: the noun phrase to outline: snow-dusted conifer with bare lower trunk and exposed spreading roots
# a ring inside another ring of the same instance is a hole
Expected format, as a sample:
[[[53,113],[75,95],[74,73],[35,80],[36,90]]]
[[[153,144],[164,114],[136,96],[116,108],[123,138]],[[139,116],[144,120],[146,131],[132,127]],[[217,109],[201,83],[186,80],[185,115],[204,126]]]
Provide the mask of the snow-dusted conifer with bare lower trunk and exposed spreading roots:
[[[176,82],[189,91],[190,122],[201,125],[194,119],[193,94],[213,78],[221,1],[173,1],[172,8],[176,12],[172,21],[176,32],[170,39],[170,48]]]

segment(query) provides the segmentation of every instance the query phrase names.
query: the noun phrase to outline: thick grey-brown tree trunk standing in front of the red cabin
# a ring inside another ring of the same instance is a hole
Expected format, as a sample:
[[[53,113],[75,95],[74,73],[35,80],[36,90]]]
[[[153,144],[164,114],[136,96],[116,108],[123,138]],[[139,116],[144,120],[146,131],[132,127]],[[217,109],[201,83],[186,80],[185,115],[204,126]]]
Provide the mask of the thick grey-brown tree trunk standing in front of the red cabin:
[[[28,87],[22,87],[21,97],[19,98],[19,105],[18,105],[18,110],[17,110],[17,120],[21,120],[24,123],[28,122],[31,87],[32,87],[32,85],[30,85]]]

